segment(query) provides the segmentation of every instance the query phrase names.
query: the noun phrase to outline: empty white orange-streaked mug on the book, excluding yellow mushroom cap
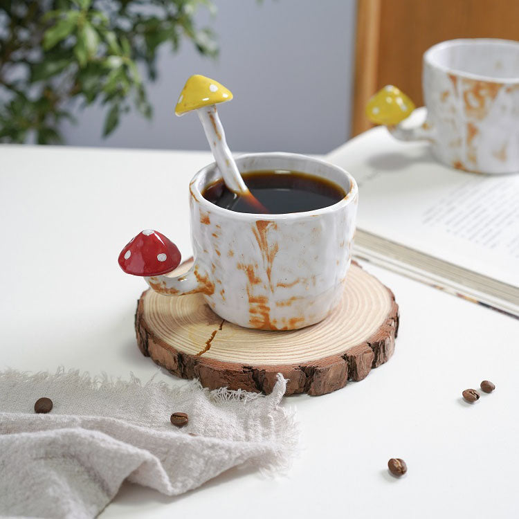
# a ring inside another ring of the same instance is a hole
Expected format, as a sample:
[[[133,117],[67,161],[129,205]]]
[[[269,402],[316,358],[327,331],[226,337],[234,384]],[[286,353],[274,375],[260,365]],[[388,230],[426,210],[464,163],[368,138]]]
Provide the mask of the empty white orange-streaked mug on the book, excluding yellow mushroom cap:
[[[446,165],[519,172],[519,42],[453,39],[424,53],[426,121],[388,126],[402,140],[430,140]]]

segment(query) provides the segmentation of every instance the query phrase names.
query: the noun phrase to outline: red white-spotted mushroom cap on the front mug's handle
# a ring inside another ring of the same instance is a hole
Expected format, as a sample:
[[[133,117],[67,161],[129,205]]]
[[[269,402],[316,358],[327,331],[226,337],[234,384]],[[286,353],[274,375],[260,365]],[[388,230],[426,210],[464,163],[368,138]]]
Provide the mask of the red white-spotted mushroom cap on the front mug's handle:
[[[181,254],[176,245],[156,230],[146,229],[122,249],[119,265],[131,275],[153,276],[174,271]]]

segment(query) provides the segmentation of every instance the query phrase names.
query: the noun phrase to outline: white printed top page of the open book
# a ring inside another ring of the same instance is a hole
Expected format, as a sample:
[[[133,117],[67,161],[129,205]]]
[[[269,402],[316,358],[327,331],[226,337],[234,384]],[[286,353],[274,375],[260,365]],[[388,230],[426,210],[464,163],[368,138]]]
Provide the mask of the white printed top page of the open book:
[[[519,175],[454,170],[428,143],[385,128],[327,156],[359,185],[357,226],[496,280],[519,285]]]

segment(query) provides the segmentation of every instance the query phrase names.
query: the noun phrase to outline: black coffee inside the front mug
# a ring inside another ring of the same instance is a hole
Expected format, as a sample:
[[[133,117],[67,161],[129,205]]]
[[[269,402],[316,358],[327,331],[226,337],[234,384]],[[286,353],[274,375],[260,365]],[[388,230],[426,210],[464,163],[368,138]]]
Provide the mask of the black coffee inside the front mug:
[[[242,174],[242,177],[253,196],[271,215],[321,209],[346,196],[336,183],[298,171],[253,171]],[[239,197],[228,190],[223,180],[208,185],[202,195],[231,211],[259,212],[246,197]]]

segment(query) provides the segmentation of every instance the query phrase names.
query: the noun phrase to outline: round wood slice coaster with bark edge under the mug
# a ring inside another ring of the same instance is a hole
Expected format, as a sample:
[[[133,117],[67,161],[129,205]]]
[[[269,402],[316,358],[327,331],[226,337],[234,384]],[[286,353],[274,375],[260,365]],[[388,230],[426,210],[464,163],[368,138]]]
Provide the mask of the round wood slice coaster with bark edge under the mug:
[[[392,291],[356,264],[338,308],[299,330],[242,328],[217,316],[201,294],[174,298],[152,290],[141,295],[135,318],[140,351],[183,379],[269,393],[282,373],[286,394],[314,395],[362,380],[388,361],[398,325]]]

